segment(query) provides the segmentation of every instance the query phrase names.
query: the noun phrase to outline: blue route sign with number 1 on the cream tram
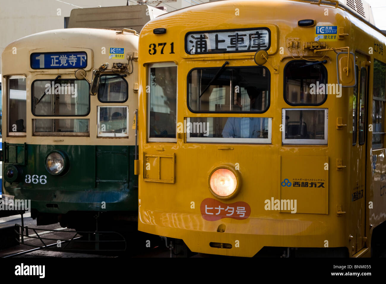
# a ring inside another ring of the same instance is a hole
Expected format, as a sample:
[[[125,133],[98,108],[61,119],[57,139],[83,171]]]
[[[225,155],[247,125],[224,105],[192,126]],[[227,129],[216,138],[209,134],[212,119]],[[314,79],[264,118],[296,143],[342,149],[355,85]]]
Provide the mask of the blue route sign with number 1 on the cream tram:
[[[30,57],[32,69],[73,69],[86,68],[87,53],[61,52],[61,53],[32,53]]]

